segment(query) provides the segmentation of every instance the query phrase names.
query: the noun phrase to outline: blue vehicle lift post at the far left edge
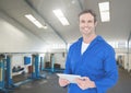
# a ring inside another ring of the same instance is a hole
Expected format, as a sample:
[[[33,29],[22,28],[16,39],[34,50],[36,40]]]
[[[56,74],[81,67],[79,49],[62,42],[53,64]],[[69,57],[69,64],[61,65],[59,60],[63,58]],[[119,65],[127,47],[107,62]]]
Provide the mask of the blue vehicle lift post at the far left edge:
[[[0,55],[0,91],[8,93],[11,91],[9,88],[12,85],[12,78],[10,75],[10,61],[4,55]]]

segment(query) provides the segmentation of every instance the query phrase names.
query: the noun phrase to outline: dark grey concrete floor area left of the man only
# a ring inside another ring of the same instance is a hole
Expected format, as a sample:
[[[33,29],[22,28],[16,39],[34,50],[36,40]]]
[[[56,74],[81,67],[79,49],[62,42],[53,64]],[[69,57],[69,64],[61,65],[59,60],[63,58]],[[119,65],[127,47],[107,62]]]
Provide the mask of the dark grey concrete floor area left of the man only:
[[[67,93],[67,89],[58,85],[58,77],[55,73],[47,75],[47,79],[23,84],[12,93]]]

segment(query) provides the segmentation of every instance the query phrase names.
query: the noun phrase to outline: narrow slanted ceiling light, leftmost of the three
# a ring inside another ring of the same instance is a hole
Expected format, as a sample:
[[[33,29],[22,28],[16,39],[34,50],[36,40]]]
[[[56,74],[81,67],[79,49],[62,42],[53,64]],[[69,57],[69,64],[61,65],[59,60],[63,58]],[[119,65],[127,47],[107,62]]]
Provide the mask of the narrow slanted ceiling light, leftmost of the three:
[[[26,19],[28,19],[32,23],[34,23],[38,28],[44,28],[44,25],[41,25],[40,22],[38,22],[32,14],[26,14]]]

